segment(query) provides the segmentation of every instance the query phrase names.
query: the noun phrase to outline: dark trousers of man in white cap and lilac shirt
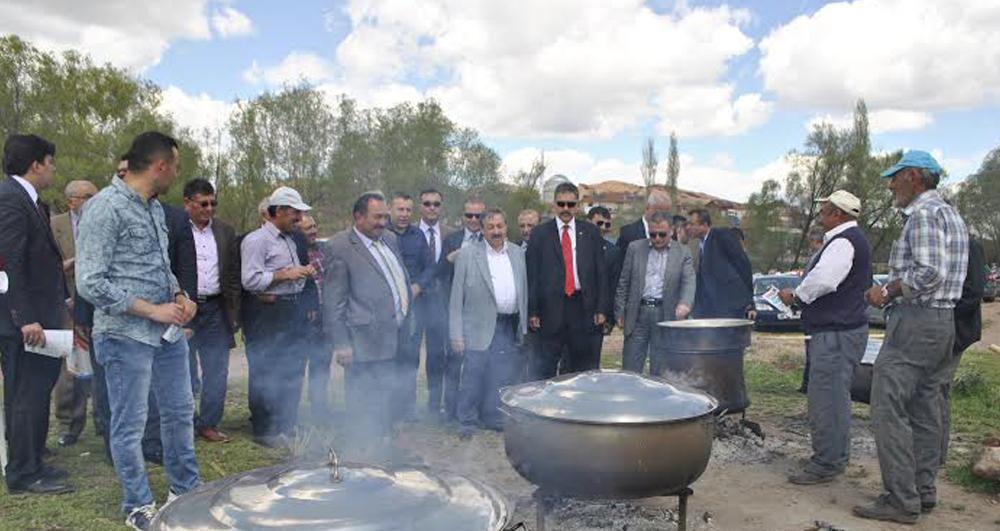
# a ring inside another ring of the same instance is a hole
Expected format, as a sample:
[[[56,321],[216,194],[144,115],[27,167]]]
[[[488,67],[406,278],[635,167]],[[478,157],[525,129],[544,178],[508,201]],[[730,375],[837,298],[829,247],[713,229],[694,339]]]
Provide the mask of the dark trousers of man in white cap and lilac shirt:
[[[298,300],[249,300],[244,326],[250,423],[255,436],[292,435],[306,370],[305,315]]]

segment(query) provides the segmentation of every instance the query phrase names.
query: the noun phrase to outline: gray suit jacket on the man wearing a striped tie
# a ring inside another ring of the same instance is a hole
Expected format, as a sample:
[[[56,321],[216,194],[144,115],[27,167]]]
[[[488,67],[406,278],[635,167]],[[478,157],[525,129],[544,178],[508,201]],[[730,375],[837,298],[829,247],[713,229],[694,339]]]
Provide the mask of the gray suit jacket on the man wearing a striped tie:
[[[388,234],[388,231],[386,231]],[[355,362],[385,361],[396,357],[401,326],[413,311],[413,293],[395,238],[383,236],[406,275],[409,312],[396,323],[392,289],[375,257],[351,227],[330,239],[324,264],[323,321],[334,348],[352,347]]]

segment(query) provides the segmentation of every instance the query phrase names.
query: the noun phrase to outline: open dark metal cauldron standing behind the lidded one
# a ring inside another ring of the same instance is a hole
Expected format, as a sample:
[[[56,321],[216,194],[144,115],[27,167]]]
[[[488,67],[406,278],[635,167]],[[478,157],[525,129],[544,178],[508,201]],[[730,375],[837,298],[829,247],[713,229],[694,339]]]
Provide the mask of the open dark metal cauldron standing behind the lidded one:
[[[719,410],[739,413],[750,405],[743,376],[743,354],[750,346],[753,321],[690,319],[666,321],[664,365],[671,381],[701,389],[719,401]]]

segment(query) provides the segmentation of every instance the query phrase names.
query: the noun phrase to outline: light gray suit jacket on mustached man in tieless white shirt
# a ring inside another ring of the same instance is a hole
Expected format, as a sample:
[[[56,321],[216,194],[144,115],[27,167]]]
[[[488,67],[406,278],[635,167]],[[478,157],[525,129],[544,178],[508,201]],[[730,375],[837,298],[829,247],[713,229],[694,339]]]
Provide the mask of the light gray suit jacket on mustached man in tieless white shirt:
[[[468,350],[489,348],[496,331],[497,304],[486,258],[487,245],[487,242],[467,245],[455,260],[448,333],[452,340],[465,340]],[[528,270],[524,263],[524,251],[513,243],[507,242],[506,245],[517,290],[517,339],[520,342],[528,332]]]

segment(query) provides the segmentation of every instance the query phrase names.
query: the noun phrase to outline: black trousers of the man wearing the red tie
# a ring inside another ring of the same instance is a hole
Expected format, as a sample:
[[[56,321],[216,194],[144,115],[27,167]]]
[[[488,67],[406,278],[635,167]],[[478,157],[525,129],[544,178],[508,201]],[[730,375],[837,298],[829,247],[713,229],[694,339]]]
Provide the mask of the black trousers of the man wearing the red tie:
[[[557,371],[583,372],[601,366],[601,349],[594,337],[601,334],[601,329],[594,325],[593,314],[584,311],[583,297],[579,294],[563,297],[562,304],[563,322],[559,328],[546,328],[545,316],[542,316],[538,348],[531,363],[531,377],[536,380],[552,378]],[[559,358],[564,348],[566,358],[560,366]]]

